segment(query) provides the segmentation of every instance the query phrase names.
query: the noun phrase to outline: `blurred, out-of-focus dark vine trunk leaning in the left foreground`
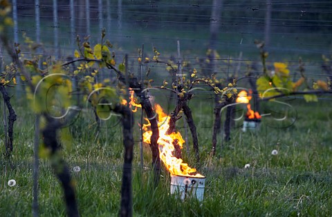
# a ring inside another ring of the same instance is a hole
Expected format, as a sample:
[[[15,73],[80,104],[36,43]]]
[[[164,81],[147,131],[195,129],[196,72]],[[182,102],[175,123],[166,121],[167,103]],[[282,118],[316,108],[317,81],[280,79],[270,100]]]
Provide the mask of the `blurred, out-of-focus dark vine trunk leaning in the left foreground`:
[[[64,189],[64,198],[68,216],[80,216],[77,209],[75,190],[71,180],[71,174],[63,158],[59,155],[59,143],[57,142],[57,131],[63,126],[63,123],[50,118],[44,114],[46,126],[42,130],[43,141],[46,148],[50,149],[50,163],[54,170],[55,176],[59,179]]]

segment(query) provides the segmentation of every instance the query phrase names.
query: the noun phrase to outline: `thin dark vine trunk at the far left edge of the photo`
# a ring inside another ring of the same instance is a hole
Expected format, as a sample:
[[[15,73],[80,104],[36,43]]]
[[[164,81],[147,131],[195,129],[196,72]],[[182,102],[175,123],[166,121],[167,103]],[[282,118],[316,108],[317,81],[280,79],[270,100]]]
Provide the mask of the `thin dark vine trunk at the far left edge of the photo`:
[[[10,156],[10,153],[12,152],[12,134],[14,132],[14,122],[16,121],[16,114],[15,111],[12,109],[12,105],[10,104],[10,96],[8,96],[8,92],[6,90],[6,87],[3,85],[0,85],[0,92],[3,96],[3,100],[6,103],[6,107],[8,108],[8,132],[5,132],[8,134],[8,141],[6,141],[6,156]]]

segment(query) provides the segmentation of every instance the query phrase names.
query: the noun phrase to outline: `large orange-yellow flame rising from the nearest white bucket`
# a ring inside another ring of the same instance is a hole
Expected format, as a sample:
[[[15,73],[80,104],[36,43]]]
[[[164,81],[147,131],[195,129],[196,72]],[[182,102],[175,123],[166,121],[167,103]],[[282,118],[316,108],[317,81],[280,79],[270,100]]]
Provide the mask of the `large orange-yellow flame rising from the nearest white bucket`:
[[[159,156],[167,170],[171,173],[171,175],[176,176],[205,177],[201,174],[194,174],[196,173],[195,168],[189,167],[187,163],[183,163],[181,158],[176,158],[173,155],[173,143],[177,143],[182,148],[185,141],[183,140],[180,132],[173,132],[172,134],[167,135],[166,132],[169,128],[170,116],[167,116],[167,114],[163,112],[163,108],[158,104],[155,105],[155,110],[158,114]],[[145,118],[145,120],[148,121],[147,118]],[[145,131],[143,134],[143,141],[145,143],[150,143],[150,138],[152,136],[152,131],[149,129],[150,126],[150,123],[143,125],[143,130]]]

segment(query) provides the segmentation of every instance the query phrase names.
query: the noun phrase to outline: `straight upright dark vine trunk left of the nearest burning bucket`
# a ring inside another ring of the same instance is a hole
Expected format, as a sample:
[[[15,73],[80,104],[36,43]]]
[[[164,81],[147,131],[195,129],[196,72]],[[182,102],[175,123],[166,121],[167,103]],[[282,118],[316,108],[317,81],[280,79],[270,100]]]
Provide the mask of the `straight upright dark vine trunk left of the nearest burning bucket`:
[[[124,162],[122,169],[120,216],[132,216],[132,161],[133,161],[133,114],[129,107],[117,105],[114,112],[122,115]]]

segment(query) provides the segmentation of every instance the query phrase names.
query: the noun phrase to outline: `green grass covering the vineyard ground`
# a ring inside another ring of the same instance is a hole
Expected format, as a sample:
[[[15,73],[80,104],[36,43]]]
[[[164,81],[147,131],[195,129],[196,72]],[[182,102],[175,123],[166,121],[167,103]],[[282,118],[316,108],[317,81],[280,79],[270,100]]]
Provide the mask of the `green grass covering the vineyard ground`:
[[[232,140],[219,138],[216,156],[210,157],[211,108],[193,103],[201,151],[199,172],[207,176],[203,202],[181,201],[169,194],[170,177],[162,172],[156,189],[152,187],[151,156],[144,147],[145,168],[139,167],[139,131],[135,126],[136,149],[133,161],[134,216],[331,216],[332,211],[332,108],[329,101],[303,103],[292,101],[297,120],[291,127],[268,127],[264,118],[259,132],[232,129]],[[195,106],[196,105],[196,106]],[[268,106],[264,105],[264,110]],[[31,216],[33,115],[15,105],[15,141],[10,167],[0,158],[0,216]],[[140,114],[137,114],[139,120]],[[85,117],[85,118],[84,118]],[[62,141],[64,158],[73,168],[77,202],[82,216],[118,216],[122,177],[122,136],[120,125],[97,134],[89,118],[74,125],[70,141]],[[179,121],[178,125],[183,125]],[[75,133],[74,133],[75,132]],[[184,129],[181,129],[184,135]],[[1,130],[3,138],[3,130]],[[192,151],[190,134],[189,143]],[[219,136],[221,137],[221,136]],[[71,145],[66,145],[71,144]],[[273,149],[278,154],[271,154]],[[1,141],[1,152],[3,142]],[[194,154],[183,152],[185,161],[195,165]],[[249,168],[244,168],[246,163]],[[8,180],[17,185],[9,187]],[[40,216],[65,216],[62,189],[48,161],[39,171]]]

